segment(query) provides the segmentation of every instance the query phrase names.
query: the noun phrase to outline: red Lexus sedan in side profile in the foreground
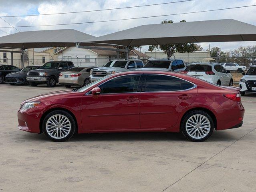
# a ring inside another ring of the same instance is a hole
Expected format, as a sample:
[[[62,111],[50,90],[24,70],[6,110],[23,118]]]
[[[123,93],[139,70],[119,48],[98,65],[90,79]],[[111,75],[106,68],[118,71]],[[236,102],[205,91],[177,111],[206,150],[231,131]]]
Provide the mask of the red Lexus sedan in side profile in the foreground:
[[[242,126],[244,117],[240,88],[163,71],[112,74],[20,105],[18,128],[53,141],[68,140],[75,132],[181,131],[200,142],[214,129]]]

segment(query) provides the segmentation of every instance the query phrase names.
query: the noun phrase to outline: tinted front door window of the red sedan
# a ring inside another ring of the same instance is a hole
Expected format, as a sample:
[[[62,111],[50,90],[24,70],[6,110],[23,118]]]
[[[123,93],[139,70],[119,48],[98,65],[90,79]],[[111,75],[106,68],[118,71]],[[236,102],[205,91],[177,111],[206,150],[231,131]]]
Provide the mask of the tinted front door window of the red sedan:
[[[126,75],[109,80],[99,86],[101,93],[137,92],[140,75]]]

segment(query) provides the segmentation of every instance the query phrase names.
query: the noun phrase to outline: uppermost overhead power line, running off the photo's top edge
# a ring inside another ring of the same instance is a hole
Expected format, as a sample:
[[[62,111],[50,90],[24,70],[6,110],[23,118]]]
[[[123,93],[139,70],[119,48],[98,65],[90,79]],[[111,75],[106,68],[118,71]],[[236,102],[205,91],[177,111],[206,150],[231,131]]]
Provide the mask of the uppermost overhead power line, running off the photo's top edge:
[[[96,11],[107,11],[107,10],[117,10],[117,9],[127,9],[127,8],[136,8],[136,7],[146,7],[146,6],[154,6],[154,5],[164,5],[171,3],[180,3],[194,0],[181,0],[167,3],[157,3],[157,4],[149,4],[149,5],[139,5],[139,6],[131,6],[131,7],[119,7],[119,8],[109,8],[109,9],[99,9],[99,10],[89,10],[89,11],[76,11],[76,12],[64,12],[64,13],[49,13],[49,14],[34,14],[34,15],[15,15],[15,16],[1,16],[1,17],[28,17],[28,16],[42,16],[42,15],[58,15],[58,14],[71,14],[71,13],[85,13],[85,12],[96,12]]]

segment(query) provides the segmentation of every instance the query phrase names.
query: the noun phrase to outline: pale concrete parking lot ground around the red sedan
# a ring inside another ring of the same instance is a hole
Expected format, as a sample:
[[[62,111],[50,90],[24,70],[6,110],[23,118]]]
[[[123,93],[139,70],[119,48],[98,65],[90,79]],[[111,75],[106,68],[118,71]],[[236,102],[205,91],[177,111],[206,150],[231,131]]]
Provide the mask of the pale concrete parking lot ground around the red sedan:
[[[177,133],[81,134],[57,143],[18,130],[20,102],[56,90],[67,88],[0,85],[1,191],[256,190],[256,94],[242,97],[241,128],[201,143]]]

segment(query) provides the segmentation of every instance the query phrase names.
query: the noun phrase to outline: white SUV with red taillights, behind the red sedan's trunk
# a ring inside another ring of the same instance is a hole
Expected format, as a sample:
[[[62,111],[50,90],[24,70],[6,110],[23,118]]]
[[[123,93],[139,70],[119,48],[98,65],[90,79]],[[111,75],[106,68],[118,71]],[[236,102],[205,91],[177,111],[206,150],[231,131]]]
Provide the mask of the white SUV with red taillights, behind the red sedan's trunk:
[[[218,63],[191,63],[182,72],[220,86],[233,86],[232,74]]]

